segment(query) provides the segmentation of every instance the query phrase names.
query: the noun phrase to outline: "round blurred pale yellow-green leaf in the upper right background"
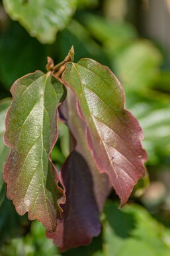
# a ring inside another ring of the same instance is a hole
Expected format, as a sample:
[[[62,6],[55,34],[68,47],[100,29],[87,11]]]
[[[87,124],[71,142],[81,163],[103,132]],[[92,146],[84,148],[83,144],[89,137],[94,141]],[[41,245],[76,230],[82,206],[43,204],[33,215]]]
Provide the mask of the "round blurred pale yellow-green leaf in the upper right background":
[[[108,50],[108,56],[112,59],[112,67],[124,84],[126,91],[138,91],[142,88],[151,87],[159,77],[161,53],[149,41],[134,41],[120,51],[115,59],[110,51],[111,49]]]

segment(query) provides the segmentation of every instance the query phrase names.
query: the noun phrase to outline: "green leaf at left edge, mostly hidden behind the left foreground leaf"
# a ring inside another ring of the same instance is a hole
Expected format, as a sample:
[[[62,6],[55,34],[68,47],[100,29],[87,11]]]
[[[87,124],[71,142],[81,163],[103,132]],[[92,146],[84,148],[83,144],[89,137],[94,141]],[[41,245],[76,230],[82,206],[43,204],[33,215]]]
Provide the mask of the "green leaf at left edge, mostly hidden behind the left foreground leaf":
[[[5,132],[5,115],[11,104],[10,98],[0,101],[0,206],[3,203],[6,193],[6,186],[3,182],[3,166],[9,154],[9,148],[3,143],[3,134]]]

